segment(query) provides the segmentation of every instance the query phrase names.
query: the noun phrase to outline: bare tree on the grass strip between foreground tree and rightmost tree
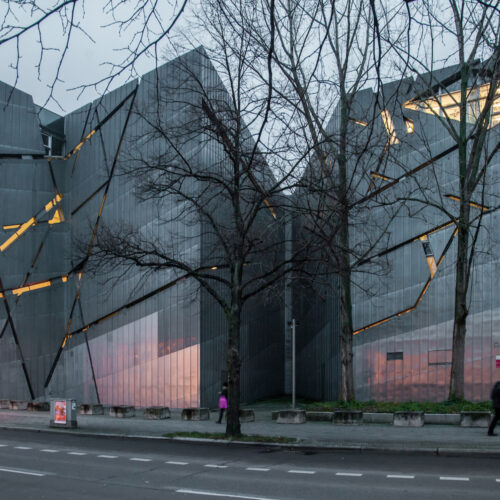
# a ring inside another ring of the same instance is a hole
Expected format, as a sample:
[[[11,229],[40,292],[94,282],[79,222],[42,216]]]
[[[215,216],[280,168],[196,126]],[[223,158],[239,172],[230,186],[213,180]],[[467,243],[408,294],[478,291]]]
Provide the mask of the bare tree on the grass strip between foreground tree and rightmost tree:
[[[383,102],[363,109],[358,94],[377,84],[386,50],[379,30],[393,21],[397,9],[377,13],[363,0],[284,0],[278,12],[275,63],[281,80],[276,79],[275,91],[288,108],[286,134],[298,151],[307,152],[299,209],[307,220],[304,228],[321,242],[320,260],[340,281],[339,394],[352,400],[353,272],[383,246],[392,217],[381,218],[379,230],[364,232],[364,240],[351,240],[354,227],[363,232],[373,210],[373,199],[360,203],[366,201],[371,172],[388,158],[387,132],[380,128]]]

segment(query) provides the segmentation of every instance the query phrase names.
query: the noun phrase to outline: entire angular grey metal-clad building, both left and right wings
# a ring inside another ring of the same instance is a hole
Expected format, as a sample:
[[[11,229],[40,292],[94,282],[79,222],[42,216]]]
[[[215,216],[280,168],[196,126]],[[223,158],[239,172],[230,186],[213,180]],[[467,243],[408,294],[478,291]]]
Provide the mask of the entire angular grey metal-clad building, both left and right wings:
[[[485,85],[479,82],[471,91],[471,125]],[[430,87],[434,94],[424,94]],[[359,400],[448,396],[456,238],[444,214],[456,215],[458,206],[457,148],[439,114],[447,110],[456,118],[457,88],[456,68],[448,68],[387,84],[384,99],[371,90],[356,96],[351,136],[370,146],[356,177],[355,199],[363,210],[351,221],[350,234],[358,254],[370,250],[353,274]],[[141,198],[133,175],[141,161],[164,151],[151,133],[155,127],[177,130],[176,155],[213,171],[221,148],[200,132],[193,110],[206,100],[223,101],[224,92],[202,49],[67,116],[40,109],[29,95],[0,83],[1,398],[55,396],[172,408],[216,403],[227,378],[227,323],[214,298],[173,268],[147,273],[111,265],[96,273],[88,257],[99,231],[121,225],[125,234],[130,226],[147,241],[170,245],[187,263],[224,272],[204,222],[181,217],[183,205],[175,197],[163,200],[161,209]],[[369,116],[373,124],[366,122]],[[467,321],[471,400],[488,399],[500,376],[499,122],[500,96],[487,134],[486,150],[494,154],[480,199],[471,206],[482,225]],[[337,127],[334,115],[328,125],[332,136]],[[267,174],[261,174],[265,183]],[[422,196],[427,204],[416,201]],[[225,208],[218,204],[214,214],[224,217]],[[261,227],[272,223],[269,213],[259,215]],[[300,224],[272,234],[287,258],[300,240]],[[260,258],[265,267],[269,256]],[[338,278],[323,276],[311,286],[292,275],[284,289],[282,297],[257,296],[243,310],[242,400],[291,392],[292,319],[297,393],[335,400]]]

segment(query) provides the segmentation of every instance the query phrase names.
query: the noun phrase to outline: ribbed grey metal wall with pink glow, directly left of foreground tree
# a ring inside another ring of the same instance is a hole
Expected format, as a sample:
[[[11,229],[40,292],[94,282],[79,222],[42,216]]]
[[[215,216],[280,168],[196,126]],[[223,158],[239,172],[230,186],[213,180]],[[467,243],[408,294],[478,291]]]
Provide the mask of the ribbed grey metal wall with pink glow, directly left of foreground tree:
[[[185,89],[175,84],[178,77],[174,63],[143,77],[119,152],[119,162],[133,162],[139,148],[144,157],[154,156],[155,145],[144,140],[150,130],[142,119],[143,114],[158,112],[166,122],[179,121],[176,109],[158,96],[158,92],[165,89],[171,92],[173,89],[178,94],[178,100],[189,99]],[[132,97],[126,99],[136,85],[137,82],[131,82],[66,119],[67,143],[77,144],[125,100],[119,111],[92,136],[75,159],[77,161],[72,166],[73,212],[109,179],[133,102]],[[180,244],[184,241],[182,251],[186,258],[198,261],[196,227],[188,227],[181,221],[167,225],[162,222],[166,214],[179,210],[176,200],[167,199],[161,206],[153,202],[139,203],[135,197],[134,181],[119,175],[120,166],[116,173],[103,205],[99,222],[101,227],[133,226],[142,234],[160,241],[176,234]],[[98,191],[73,214],[73,265],[82,259],[82,250],[90,240],[105,189]],[[74,314],[71,328],[78,329],[105,317],[178,276],[179,273],[173,270],[148,275],[133,267],[107,270],[104,275],[84,273],[81,280],[75,276],[73,289],[68,292],[68,303],[73,301],[76,290],[80,288],[81,310]],[[101,402],[174,408],[198,406],[200,316],[199,302],[193,300],[196,289],[194,283],[184,281],[71,338],[55,371],[50,391],[64,391],[79,400],[95,401],[97,393],[89,363],[90,351]],[[88,349],[84,335],[89,338]]]

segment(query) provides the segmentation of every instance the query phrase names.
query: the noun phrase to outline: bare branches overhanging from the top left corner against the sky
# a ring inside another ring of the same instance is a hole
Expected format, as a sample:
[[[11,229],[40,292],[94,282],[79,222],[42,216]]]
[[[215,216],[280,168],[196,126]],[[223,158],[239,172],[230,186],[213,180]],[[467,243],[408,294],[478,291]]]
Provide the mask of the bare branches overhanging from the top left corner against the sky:
[[[143,58],[158,60],[158,47],[168,38],[187,6],[188,0],[138,0],[133,5],[126,0],[87,3],[85,0],[6,0],[0,6],[0,47],[10,48],[14,87],[19,81],[20,63],[25,54],[35,51],[38,54],[35,70],[40,80],[46,78],[44,71],[52,60],[55,69],[50,72],[49,93],[43,105],[54,103],[61,108],[58,92],[76,34],[83,35],[88,43],[94,43],[85,28],[86,9],[99,8],[105,23],[102,28],[115,29],[123,38],[117,59],[101,61],[108,66],[108,74],[94,81],[82,82],[73,89],[81,93],[93,87],[103,94],[115,80],[138,76],[136,65]]]

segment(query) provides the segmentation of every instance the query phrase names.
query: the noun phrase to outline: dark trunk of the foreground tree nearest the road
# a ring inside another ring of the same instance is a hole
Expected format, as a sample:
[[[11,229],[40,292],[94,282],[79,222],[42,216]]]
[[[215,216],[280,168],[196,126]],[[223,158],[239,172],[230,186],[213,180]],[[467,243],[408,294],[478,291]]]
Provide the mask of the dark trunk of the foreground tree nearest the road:
[[[231,310],[228,319],[227,338],[227,373],[228,373],[228,409],[226,434],[241,436],[240,425],[240,325],[241,325],[241,293],[239,287],[233,287]]]

